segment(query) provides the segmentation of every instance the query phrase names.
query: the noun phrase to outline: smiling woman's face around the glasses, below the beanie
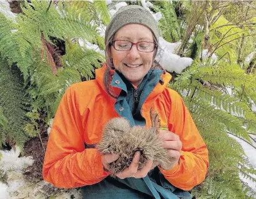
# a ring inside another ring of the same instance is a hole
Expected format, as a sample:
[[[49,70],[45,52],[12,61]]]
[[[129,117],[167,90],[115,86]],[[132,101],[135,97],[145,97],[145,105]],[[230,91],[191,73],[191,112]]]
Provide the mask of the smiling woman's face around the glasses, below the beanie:
[[[140,24],[127,24],[114,35],[115,40],[154,42],[150,29]],[[111,57],[116,70],[119,70],[132,84],[139,85],[152,66],[153,52],[140,52],[134,45],[130,51],[117,51],[111,47]]]

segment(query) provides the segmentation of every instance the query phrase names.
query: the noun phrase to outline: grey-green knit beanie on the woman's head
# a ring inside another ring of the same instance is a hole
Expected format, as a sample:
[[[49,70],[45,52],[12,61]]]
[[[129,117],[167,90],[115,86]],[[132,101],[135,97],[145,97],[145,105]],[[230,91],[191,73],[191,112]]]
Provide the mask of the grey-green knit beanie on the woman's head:
[[[155,41],[159,42],[159,30],[152,14],[144,7],[130,5],[121,7],[111,18],[105,33],[105,45],[109,45],[111,37],[126,24],[142,24],[154,34]]]

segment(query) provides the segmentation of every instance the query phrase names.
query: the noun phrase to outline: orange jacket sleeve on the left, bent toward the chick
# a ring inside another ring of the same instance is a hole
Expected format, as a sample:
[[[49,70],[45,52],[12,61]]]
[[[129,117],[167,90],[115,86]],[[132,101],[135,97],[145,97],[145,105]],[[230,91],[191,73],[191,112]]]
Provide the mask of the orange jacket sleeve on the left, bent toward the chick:
[[[81,115],[71,90],[67,89],[57,109],[42,170],[44,180],[60,188],[92,185],[109,175],[97,149],[84,147]]]

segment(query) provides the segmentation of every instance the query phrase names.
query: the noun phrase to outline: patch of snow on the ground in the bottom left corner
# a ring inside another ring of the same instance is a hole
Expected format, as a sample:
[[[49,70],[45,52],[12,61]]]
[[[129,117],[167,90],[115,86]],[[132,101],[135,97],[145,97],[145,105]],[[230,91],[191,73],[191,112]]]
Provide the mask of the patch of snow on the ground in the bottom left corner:
[[[4,183],[0,182],[0,199],[34,198],[41,199],[54,196],[54,198],[82,198],[81,190],[58,189],[50,183],[31,182],[22,174],[27,166],[32,165],[31,157],[19,157],[20,150],[16,147],[9,151],[0,150],[0,168],[5,173]],[[2,176],[2,175],[1,175]],[[0,176],[0,177],[1,177]]]

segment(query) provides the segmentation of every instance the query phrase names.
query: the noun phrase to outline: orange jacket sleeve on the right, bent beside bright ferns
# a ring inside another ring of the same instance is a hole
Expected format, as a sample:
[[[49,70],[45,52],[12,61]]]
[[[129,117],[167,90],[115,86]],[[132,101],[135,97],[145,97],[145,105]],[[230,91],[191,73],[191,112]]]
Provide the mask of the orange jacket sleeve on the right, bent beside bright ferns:
[[[181,97],[176,93],[172,100],[169,130],[182,142],[180,162],[170,170],[159,167],[164,177],[175,187],[191,190],[205,179],[209,167],[208,150]]]

